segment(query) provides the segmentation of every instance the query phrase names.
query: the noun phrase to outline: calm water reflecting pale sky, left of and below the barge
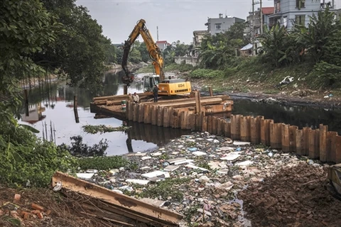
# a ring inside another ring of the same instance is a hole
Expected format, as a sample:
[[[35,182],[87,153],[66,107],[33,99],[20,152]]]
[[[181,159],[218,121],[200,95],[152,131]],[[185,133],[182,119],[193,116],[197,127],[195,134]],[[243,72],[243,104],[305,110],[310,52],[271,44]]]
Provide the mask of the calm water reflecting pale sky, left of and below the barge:
[[[90,113],[90,101],[94,96],[109,96],[123,94],[123,84],[120,84],[119,74],[106,74],[103,78],[104,89],[96,94],[86,89],[68,87],[65,83],[43,83],[28,92],[29,113],[21,113],[21,123],[31,124],[40,133],[38,136],[55,141],[56,144],[70,145],[70,137],[81,135],[84,143],[92,146],[102,139],[107,139],[109,148],[107,155],[120,155],[129,152],[141,152],[168,143],[169,140],[183,135],[185,131],[172,128],[144,125],[128,122],[132,126],[126,132],[112,132],[104,134],[87,134],[82,126],[107,125],[118,127],[122,121],[116,118],[94,119]],[[134,82],[129,92],[140,92],[141,83]],[[75,123],[73,112],[73,96],[77,95],[78,115],[80,123]]]

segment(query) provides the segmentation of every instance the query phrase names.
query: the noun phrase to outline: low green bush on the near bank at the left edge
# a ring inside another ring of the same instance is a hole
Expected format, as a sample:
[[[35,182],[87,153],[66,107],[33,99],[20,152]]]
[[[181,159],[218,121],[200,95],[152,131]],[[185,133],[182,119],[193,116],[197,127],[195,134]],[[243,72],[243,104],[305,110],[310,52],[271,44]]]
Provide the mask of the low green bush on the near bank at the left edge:
[[[1,127],[0,182],[11,187],[47,187],[56,170],[75,170],[77,161],[54,143],[42,141],[25,128]],[[3,135],[6,135],[4,137]],[[20,144],[18,143],[20,141]]]

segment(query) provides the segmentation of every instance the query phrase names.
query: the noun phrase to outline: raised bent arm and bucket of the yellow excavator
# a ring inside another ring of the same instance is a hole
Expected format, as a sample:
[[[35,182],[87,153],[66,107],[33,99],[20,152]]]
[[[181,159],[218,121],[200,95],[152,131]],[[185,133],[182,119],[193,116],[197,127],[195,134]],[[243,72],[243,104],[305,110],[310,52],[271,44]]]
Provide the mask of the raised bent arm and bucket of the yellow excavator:
[[[144,43],[146,43],[146,48],[149,53],[149,57],[153,61],[153,66],[155,69],[156,74],[160,76],[161,81],[165,79],[165,74],[163,73],[163,57],[160,48],[154,42],[153,38],[151,37],[151,33],[149,33],[148,29],[146,28],[146,21],[141,19],[134,30],[130,33],[128,40],[124,41],[124,52],[122,57],[122,69],[125,72],[125,75],[122,77],[122,82],[129,86],[134,81],[134,74],[129,71],[127,67],[128,56],[130,52],[131,45],[134,44],[136,38],[139,37],[141,34],[142,38],[144,39]]]

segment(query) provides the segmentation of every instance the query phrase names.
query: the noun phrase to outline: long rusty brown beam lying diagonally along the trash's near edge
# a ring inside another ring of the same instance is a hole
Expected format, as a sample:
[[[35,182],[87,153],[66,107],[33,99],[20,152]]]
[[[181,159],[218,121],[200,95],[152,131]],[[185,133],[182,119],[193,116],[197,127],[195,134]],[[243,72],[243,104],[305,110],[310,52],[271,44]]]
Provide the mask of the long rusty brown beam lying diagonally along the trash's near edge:
[[[143,201],[134,199],[131,196],[113,192],[112,190],[100,187],[90,182],[86,182],[85,180],[76,179],[75,177],[64,174],[63,172],[55,172],[53,175],[53,187],[55,187],[58,182],[62,182],[63,189],[68,189],[72,192],[77,192],[101,199],[102,201],[105,201],[109,204],[119,206],[121,209],[135,211],[142,216],[153,218],[157,221],[162,221],[165,224],[169,223],[172,226],[178,226],[178,223],[183,218],[183,216],[180,214],[144,203]],[[122,215],[124,215],[124,212],[122,212]]]

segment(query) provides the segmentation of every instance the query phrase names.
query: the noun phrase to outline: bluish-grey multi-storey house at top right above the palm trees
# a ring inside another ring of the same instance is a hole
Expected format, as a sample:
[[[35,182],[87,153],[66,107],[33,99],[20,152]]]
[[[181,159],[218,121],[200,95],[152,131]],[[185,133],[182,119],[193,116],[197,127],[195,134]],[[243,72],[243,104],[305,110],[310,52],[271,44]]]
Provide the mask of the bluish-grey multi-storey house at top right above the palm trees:
[[[274,19],[274,23],[279,23],[290,30],[294,23],[308,26],[309,16],[317,14],[329,6],[331,11],[341,8],[341,0],[274,0],[274,14],[269,18]]]

